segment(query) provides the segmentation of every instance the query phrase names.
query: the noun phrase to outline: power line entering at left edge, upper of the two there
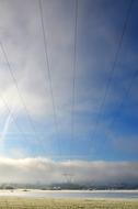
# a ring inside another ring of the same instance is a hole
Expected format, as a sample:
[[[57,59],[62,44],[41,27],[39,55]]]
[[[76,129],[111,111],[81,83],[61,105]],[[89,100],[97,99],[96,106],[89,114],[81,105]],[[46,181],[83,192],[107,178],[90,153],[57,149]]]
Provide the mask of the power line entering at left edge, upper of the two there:
[[[42,143],[42,141],[41,141],[39,138],[37,136],[37,132],[36,132],[36,130],[35,130],[35,125],[34,125],[34,123],[33,123],[33,121],[32,121],[32,118],[31,118],[30,112],[28,112],[28,110],[27,110],[27,107],[26,107],[26,105],[25,105],[25,102],[24,102],[24,99],[23,99],[23,97],[22,97],[22,95],[21,95],[21,92],[20,92],[20,88],[19,88],[18,81],[16,81],[16,78],[15,78],[15,76],[14,76],[14,74],[13,74],[13,70],[12,70],[12,68],[11,68],[11,65],[10,65],[10,63],[9,63],[8,55],[7,55],[7,53],[5,53],[5,50],[4,50],[4,47],[3,47],[2,42],[0,42],[0,47],[1,47],[1,51],[2,51],[2,53],[3,53],[3,55],[4,55],[4,59],[5,59],[5,62],[7,62],[8,69],[9,69],[9,72],[10,72],[11,77],[12,77],[12,80],[13,80],[13,82],[14,82],[14,85],[15,85],[16,90],[18,90],[19,98],[20,98],[20,100],[21,100],[21,102],[22,102],[22,106],[23,106],[25,112],[26,112],[27,120],[28,120],[28,122],[30,122],[30,124],[31,124],[31,127],[32,127],[32,130],[33,130],[33,132],[34,132],[34,134],[35,134],[35,138],[36,138],[37,142]]]

